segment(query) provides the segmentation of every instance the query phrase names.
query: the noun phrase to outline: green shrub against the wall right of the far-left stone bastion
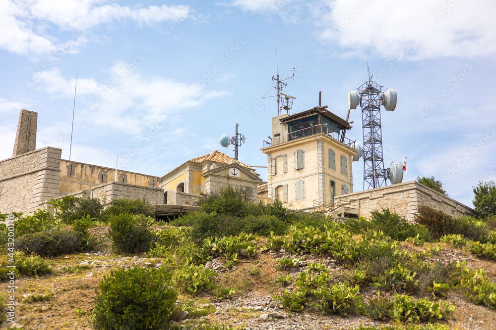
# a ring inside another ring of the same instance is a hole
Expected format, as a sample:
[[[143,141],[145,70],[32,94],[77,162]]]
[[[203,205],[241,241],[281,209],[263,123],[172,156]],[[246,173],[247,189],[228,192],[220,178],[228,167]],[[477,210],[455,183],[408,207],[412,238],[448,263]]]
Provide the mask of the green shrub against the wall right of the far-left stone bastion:
[[[55,217],[62,220],[64,224],[71,225],[75,220],[86,217],[98,220],[102,217],[104,203],[98,198],[80,198],[74,196],[64,196],[59,199],[52,199]]]

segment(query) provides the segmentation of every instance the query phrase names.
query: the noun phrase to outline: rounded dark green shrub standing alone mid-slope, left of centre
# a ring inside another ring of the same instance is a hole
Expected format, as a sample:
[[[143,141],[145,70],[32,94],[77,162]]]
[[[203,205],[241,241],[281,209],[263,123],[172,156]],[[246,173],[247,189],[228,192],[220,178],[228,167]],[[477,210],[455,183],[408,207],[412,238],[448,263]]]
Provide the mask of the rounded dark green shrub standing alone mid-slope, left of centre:
[[[121,253],[146,252],[153,240],[146,227],[146,218],[129,213],[116,215],[110,220],[109,236]]]

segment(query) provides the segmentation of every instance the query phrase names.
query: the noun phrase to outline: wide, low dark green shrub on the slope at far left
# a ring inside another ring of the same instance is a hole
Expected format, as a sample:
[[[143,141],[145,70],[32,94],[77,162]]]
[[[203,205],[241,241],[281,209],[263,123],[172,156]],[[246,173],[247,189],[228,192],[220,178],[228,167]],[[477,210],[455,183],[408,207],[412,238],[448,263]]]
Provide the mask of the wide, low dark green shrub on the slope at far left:
[[[80,252],[84,245],[81,237],[73,231],[53,230],[20,236],[15,240],[15,247],[27,254],[54,257]]]

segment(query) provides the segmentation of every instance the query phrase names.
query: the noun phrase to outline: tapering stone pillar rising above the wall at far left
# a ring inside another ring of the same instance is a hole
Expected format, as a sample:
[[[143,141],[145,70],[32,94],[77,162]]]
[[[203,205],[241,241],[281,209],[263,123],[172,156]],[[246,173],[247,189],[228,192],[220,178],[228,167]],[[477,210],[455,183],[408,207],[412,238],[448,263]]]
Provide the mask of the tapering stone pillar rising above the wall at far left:
[[[17,124],[17,133],[15,135],[14,152],[12,157],[22,155],[23,153],[34,151],[36,149],[36,124],[38,113],[34,111],[21,110],[19,114],[19,123]]]

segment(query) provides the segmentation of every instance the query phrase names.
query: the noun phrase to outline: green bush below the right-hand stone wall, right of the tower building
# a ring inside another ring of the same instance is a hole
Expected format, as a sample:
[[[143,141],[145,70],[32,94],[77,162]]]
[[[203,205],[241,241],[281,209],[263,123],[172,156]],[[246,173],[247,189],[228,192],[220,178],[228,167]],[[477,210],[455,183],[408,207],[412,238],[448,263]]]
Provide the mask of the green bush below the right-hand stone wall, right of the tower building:
[[[405,240],[408,237],[416,237],[419,239],[430,241],[431,237],[426,227],[418,224],[410,224],[398,214],[391,213],[389,209],[382,208],[381,212],[372,211],[371,220],[367,221],[360,217],[356,219],[348,219],[344,227],[354,234],[360,234],[363,231],[382,231],[384,235],[395,240]]]

